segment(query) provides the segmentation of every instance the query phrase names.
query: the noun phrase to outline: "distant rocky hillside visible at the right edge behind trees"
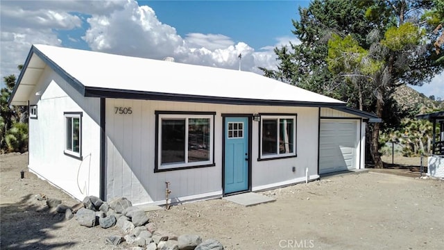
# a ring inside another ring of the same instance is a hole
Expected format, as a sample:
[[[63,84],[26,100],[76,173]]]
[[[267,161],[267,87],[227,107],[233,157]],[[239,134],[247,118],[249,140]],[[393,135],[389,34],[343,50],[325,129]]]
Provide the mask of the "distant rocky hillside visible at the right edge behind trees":
[[[407,85],[398,87],[393,97],[402,110],[418,110],[418,115],[444,110],[444,100],[432,100]]]

